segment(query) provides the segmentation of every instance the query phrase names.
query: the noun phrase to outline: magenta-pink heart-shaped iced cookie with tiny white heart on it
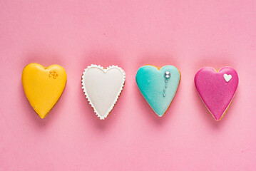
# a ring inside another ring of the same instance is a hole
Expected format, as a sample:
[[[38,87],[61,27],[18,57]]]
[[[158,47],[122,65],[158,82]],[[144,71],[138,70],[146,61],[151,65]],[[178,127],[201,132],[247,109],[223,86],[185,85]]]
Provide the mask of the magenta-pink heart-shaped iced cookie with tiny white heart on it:
[[[195,88],[215,120],[220,120],[227,111],[237,86],[237,72],[231,67],[218,71],[205,67],[195,74]]]

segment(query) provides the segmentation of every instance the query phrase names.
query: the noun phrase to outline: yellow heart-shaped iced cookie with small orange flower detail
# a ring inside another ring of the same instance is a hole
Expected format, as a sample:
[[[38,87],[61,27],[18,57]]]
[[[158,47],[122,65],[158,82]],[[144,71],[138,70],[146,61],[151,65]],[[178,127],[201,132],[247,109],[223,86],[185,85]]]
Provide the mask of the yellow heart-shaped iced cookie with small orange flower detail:
[[[48,68],[38,63],[29,63],[21,76],[26,98],[40,118],[45,118],[66,86],[66,71],[62,66]]]

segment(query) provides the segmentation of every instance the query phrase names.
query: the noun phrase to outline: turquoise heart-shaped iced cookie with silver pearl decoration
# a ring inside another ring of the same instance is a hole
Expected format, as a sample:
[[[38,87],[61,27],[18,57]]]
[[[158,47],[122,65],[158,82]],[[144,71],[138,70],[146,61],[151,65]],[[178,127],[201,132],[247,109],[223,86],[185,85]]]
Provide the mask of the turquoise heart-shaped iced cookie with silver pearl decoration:
[[[158,116],[163,116],[173,101],[180,83],[180,71],[175,66],[142,66],[136,74],[140,93]]]

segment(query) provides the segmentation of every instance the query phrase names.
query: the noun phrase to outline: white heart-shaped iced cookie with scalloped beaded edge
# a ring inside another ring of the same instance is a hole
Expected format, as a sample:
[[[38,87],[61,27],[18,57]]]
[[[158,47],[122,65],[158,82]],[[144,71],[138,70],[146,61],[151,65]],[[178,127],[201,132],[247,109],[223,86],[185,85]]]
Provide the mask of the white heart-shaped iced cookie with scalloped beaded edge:
[[[88,102],[101,120],[113,109],[123,90],[126,73],[118,66],[88,66],[82,76],[82,88]]]

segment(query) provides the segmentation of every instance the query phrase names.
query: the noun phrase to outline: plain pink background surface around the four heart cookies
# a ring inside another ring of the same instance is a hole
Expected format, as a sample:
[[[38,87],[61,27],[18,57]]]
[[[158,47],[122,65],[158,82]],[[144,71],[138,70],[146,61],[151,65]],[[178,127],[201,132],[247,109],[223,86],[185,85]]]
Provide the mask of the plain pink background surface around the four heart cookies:
[[[255,1],[0,1],[0,170],[255,170]],[[68,75],[50,115],[26,100],[26,64]],[[106,120],[81,90],[91,64],[116,64],[126,86]],[[140,66],[172,64],[178,93],[163,118],[140,95]],[[232,66],[240,83],[220,122],[193,82],[203,66]]]

